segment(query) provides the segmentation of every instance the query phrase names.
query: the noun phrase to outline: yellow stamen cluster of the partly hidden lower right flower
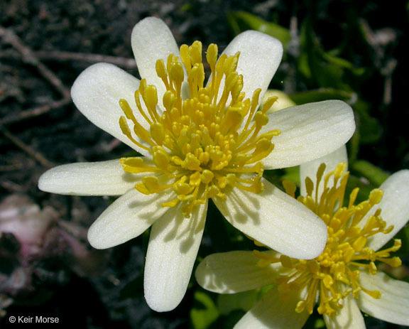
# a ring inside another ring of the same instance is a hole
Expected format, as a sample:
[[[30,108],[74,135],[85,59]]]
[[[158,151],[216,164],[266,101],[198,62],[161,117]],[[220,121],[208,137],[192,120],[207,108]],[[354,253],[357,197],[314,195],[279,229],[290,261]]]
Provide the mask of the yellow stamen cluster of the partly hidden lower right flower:
[[[346,165],[339,163],[324,180],[324,192],[321,196],[314,191],[314,184],[306,178],[305,186],[307,196],[300,196],[298,200],[319,215],[327,225],[328,240],[322,254],[312,260],[291,259],[284,255],[267,257],[261,252],[255,254],[261,258],[259,266],[280,262],[290,274],[280,277],[276,284],[281,296],[289,296],[292,291],[307,289],[305,300],[299,301],[295,311],[307,310],[312,313],[315,302],[318,303],[318,313],[334,315],[342,308],[342,299],[350,293],[354,298],[359,291],[368,293],[373,298],[380,298],[379,291],[369,291],[361,286],[359,273],[361,269],[376,274],[375,261],[381,261],[390,266],[400,266],[398,257],[391,257],[391,252],[400,248],[400,240],[396,239],[393,247],[375,252],[366,247],[369,237],[374,234],[388,234],[393,226],[386,227],[386,222],[381,218],[381,209],[368,215],[373,205],[378,204],[383,196],[382,190],[372,190],[369,200],[354,205],[359,188],[355,188],[349,195],[348,205],[344,205],[344,194],[349,173],[345,173]],[[325,164],[317,171],[317,186],[322,180]],[[328,187],[329,179],[333,178],[334,184]],[[289,195],[295,196],[295,185],[284,182],[285,190]],[[366,218],[366,222],[363,222]]]

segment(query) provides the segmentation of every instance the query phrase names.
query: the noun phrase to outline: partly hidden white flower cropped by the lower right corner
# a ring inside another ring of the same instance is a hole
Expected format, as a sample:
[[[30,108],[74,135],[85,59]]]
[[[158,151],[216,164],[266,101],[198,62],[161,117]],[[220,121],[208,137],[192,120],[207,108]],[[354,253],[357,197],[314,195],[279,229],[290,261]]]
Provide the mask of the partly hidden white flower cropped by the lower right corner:
[[[354,205],[358,193],[354,189],[349,203],[339,207],[348,178],[343,173],[345,164],[336,166],[339,161],[347,161],[345,148],[301,166],[305,197],[299,200],[320,215],[328,227],[327,246],[319,257],[298,260],[274,251],[227,252],[212,254],[197,267],[199,284],[218,293],[275,284],[235,329],[302,328],[315,303],[327,328],[365,328],[361,311],[409,325],[409,284],[377,271],[374,263],[401,264],[398,257],[391,257],[391,252],[400,248],[400,240],[379,249],[409,220],[409,171],[393,174],[381,190],[373,190],[369,200],[359,205]],[[320,163],[326,163],[326,172]],[[328,168],[336,169],[328,173]],[[334,178],[334,183],[329,178]],[[293,194],[294,187],[285,185]]]

